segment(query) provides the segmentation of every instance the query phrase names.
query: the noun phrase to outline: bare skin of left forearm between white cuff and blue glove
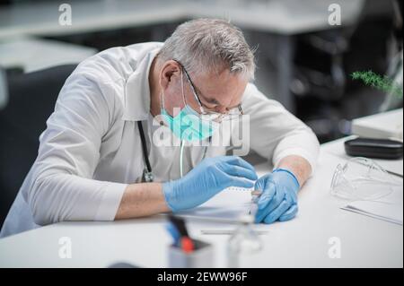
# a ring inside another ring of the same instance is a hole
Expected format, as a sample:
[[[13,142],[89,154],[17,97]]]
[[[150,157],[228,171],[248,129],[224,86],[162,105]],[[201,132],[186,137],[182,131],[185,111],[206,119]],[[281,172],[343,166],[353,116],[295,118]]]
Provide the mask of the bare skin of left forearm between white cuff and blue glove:
[[[162,184],[143,183],[128,185],[119,204],[115,220],[170,212],[162,193]]]

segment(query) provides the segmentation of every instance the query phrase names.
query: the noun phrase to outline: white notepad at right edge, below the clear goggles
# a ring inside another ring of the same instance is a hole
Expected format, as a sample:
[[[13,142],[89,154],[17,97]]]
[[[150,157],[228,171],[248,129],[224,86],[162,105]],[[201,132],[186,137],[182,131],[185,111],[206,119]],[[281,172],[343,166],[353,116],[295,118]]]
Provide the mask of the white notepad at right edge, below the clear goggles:
[[[403,221],[403,189],[395,187],[394,191],[380,201],[356,201],[342,207],[343,210],[356,212],[402,225]]]

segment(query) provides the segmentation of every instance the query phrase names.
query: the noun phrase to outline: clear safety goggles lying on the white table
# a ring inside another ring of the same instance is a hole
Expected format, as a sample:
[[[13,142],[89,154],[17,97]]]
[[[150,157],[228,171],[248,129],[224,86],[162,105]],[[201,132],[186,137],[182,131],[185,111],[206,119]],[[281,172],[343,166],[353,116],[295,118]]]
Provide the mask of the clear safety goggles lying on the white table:
[[[402,186],[373,160],[356,157],[338,164],[331,180],[331,195],[347,200],[374,201],[390,195],[394,187]]]

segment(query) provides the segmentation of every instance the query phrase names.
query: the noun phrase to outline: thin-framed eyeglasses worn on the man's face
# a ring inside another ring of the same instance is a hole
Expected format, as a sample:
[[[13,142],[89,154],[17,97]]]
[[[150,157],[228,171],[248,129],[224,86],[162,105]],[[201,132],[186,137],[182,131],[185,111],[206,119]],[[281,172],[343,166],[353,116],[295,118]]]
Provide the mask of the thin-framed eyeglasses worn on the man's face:
[[[198,114],[201,115],[202,119],[220,122],[223,120],[232,120],[232,119],[235,119],[235,118],[238,118],[238,117],[241,117],[242,115],[244,115],[241,104],[239,104],[236,108],[227,109],[227,111],[225,113],[208,110],[209,108],[206,108],[206,107],[204,108],[204,104],[200,100],[197,89],[196,89],[194,83],[192,82],[192,80],[190,79],[190,76],[189,76],[187,70],[185,69],[184,65],[182,65],[180,63],[180,61],[178,61],[176,59],[174,59],[174,61],[176,61],[180,65],[182,70],[184,71],[185,77],[187,78],[187,81],[189,82],[189,86],[191,88],[192,94],[194,95],[194,98],[197,101],[198,106],[199,106],[199,110],[195,110],[195,111],[197,111]],[[185,100],[185,104],[187,104],[187,100],[186,100],[185,96],[184,96],[184,100]]]

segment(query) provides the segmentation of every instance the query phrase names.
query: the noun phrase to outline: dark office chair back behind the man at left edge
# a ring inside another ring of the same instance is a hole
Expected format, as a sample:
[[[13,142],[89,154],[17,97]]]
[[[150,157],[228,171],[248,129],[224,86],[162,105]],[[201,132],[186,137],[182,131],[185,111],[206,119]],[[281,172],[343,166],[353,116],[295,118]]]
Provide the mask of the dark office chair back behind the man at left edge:
[[[38,155],[40,134],[75,66],[7,76],[8,102],[0,109],[0,226]]]

